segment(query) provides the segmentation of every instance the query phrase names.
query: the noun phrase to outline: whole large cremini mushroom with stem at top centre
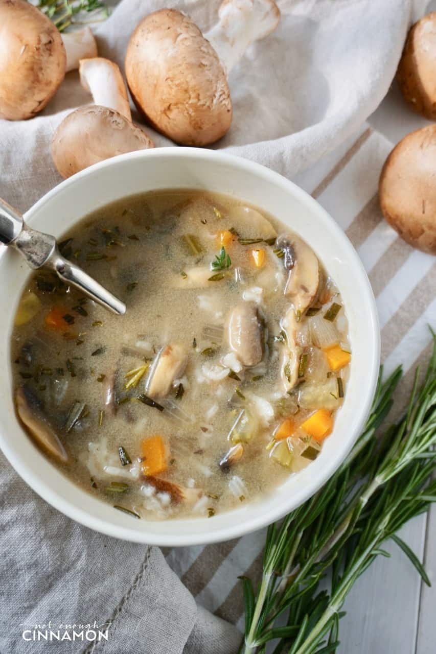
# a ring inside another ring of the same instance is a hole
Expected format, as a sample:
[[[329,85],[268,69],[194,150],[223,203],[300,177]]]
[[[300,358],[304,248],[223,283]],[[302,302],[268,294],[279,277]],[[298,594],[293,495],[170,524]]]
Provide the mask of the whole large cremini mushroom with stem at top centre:
[[[150,14],[127,48],[126,77],[134,103],[175,143],[208,145],[221,139],[232,122],[227,75],[247,46],[279,20],[273,0],[225,0],[219,24],[204,36],[191,18],[174,9]]]

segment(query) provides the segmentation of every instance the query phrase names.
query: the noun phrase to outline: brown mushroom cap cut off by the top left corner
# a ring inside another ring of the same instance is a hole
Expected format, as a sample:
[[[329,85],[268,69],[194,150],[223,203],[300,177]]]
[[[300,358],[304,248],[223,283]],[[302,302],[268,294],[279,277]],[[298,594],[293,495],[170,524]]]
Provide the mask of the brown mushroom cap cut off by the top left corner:
[[[0,0],[0,116],[31,118],[64,79],[66,55],[52,22],[26,0]]]

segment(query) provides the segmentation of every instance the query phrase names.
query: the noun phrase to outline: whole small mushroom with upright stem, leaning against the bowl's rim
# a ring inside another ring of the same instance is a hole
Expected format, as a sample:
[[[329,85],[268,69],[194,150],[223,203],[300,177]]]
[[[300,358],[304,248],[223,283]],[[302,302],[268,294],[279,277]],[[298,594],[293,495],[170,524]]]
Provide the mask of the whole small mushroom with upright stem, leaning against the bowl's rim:
[[[132,123],[117,64],[101,57],[85,59],[79,72],[82,86],[96,104],[68,114],[54,133],[52,158],[62,177],[117,154],[154,147],[147,134]]]

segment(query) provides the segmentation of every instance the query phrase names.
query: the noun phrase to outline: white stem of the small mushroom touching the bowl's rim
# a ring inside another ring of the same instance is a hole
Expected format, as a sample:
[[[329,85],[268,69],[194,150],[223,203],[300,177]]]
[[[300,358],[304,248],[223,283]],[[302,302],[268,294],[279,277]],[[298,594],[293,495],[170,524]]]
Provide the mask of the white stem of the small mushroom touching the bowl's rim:
[[[132,121],[126,85],[116,63],[95,57],[79,62],[81,84],[92,94],[94,104],[113,109]]]

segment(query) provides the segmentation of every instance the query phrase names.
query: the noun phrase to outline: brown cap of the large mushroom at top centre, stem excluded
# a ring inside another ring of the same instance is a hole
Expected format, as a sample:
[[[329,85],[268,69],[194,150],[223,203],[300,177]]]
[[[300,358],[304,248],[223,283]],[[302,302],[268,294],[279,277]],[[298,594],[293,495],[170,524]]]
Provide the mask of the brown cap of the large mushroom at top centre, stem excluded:
[[[130,37],[126,77],[137,109],[183,145],[208,145],[232,122],[225,71],[191,18],[161,9]]]

